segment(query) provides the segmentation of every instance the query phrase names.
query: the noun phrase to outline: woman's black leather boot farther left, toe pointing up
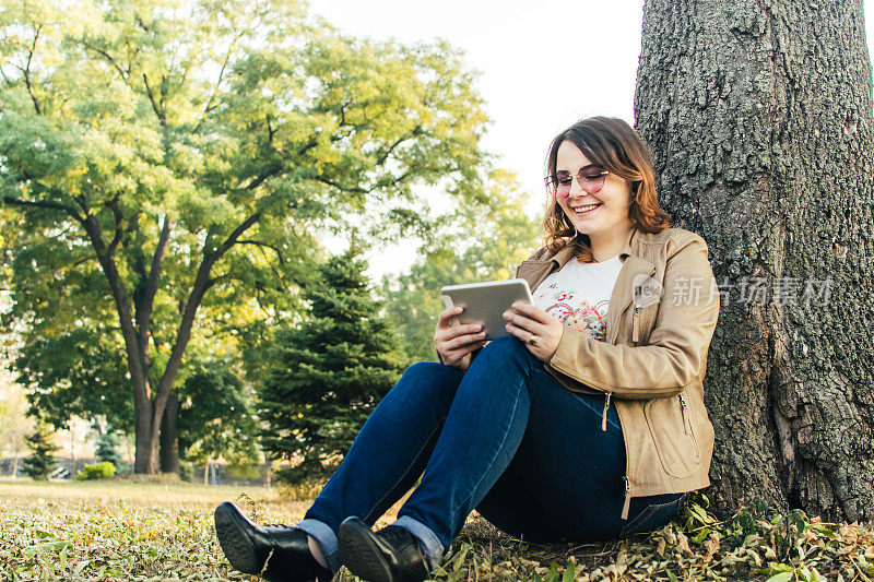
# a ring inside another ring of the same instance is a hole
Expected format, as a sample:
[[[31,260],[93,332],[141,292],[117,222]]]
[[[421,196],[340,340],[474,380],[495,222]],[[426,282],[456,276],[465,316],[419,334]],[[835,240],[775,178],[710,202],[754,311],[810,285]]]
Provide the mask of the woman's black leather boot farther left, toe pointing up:
[[[215,535],[227,561],[240,572],[263,570],[270,582],[327,582],[333,578],[331,570],[312,557],[305,531],[291,525],[256,525],[228,501],[215,508]]]

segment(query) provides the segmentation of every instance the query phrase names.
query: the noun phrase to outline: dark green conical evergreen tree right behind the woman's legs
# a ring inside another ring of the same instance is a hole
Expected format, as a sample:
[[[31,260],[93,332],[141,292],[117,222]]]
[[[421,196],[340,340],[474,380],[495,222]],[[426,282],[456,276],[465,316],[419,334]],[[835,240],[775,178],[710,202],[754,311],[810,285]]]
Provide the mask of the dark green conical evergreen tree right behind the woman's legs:
[[[260,390],[265,451],[295,464],[297,484],[336,468],[376,404],[398,380],[403,355],[370,295],[354,251],[330,259],[305,294],[311,317],[281,325]]]

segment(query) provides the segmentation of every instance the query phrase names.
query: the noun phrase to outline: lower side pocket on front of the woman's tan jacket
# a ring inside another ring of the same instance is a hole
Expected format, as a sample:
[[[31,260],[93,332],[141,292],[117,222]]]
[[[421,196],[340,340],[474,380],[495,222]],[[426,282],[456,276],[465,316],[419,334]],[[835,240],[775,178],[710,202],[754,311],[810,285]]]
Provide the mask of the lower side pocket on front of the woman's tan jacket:
[[[701,449],[692,414],[684,393],[670,399],[654,399],[643,406],[643,416],[662,467],[669,475],[681,479],[690,477],[701,466]]]

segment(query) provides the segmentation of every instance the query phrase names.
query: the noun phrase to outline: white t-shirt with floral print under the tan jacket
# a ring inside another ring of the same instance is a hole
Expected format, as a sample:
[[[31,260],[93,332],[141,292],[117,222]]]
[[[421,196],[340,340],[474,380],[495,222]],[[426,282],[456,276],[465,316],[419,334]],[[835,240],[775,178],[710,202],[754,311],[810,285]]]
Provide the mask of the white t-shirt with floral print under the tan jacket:
[[[619,256],[600,263],[581,263],[576,259],[550,274],[534,290],[534,305],[603,342],[607,336],[607,308],[613,286],[622,270]]]

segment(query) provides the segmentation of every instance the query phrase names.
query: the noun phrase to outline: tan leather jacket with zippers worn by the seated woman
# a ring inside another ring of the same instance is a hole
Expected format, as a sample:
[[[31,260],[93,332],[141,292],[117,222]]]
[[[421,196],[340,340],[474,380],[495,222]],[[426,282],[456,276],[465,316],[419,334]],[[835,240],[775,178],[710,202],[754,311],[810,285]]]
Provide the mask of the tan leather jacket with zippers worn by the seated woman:
[[[533,290],[571,257],[572,248],[541,249],[517,276]],[[707,244],[695,233],[634,229],[619,260],[605,341],[566,328],[545,367],[570,390],[603,394],[604,420],[615,404],[627,459],[622,518],[628,519],[631,497],[710,485],[713,427],[701,379],[720,295]]]

